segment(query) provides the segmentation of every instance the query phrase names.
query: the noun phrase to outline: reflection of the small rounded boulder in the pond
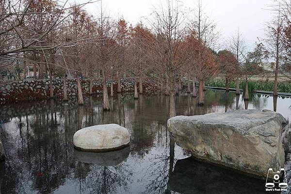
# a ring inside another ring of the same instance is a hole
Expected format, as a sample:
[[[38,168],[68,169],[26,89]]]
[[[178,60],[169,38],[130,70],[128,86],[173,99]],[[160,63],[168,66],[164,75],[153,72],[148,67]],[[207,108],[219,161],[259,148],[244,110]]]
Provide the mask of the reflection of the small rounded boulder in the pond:
[[[129,156],[129,147],[109,152],[87,152],[74,149],[75,159],[82,163],[98,166],[116,166],[126,161]]]

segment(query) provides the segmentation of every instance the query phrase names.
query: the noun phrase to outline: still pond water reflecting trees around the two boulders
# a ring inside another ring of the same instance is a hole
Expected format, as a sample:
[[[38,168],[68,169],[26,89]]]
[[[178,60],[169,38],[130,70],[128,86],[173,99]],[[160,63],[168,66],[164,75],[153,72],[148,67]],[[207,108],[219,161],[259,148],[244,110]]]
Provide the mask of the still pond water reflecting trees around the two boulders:
[[[244,109],[242,96],[207,90],[205,106],[184,93],[177,115]],[[263,194],[265,181],[204,164],[173,143],[166,128],[168,97],[130,93],[101,98],[0,105],[0,134],[8,159],[0,164],[0,194]],[[253,94],[248,109],[272,109],[273,97]],[[277,111],[291,120],[291,99],[278,98]],[[130,146],[109,153],[79,152],[73,135],[81,128],[117,123],[129,129]],[[284,131],[285,170],[291,185],[291,127]],[[287,192],[291,193],[291,186]]]

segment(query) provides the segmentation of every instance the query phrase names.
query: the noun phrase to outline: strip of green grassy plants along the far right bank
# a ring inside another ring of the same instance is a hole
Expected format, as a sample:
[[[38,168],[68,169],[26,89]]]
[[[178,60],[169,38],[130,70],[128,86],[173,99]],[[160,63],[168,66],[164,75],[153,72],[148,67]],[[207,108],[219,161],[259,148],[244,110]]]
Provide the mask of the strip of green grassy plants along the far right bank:
[[[206,82],[206,86],[211,87],[226,87],[226,82],[222,80],[217,81],[208,81]],[[236,88],[235,82],[229,82],[229,88]],[[240,89],[245,89],[245,82],[240,83]],[[263,90],[263,91],[273,91],[274,83],[273,82],[257,82],[257,81],[249,81],[249,91],[253,90]],[[291,93],[291,84],[290,83],[278,83],[278,92],[287,92]]]

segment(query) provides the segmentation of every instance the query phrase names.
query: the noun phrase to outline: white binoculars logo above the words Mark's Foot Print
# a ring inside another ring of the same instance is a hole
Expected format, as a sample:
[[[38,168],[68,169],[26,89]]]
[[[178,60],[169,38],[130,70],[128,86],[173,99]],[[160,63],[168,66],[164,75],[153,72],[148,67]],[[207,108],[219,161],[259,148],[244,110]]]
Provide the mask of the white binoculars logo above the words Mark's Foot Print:
[[[280,175],[282,177],[281,181],[280,181]],[[281,168],[281,170],[277,172],[274,172],[272,168],[269,168],[267,180],[266,180],[266,187],[273,188],[275,187],[275,184],[278,184],[280,188],[288,187],[288,182],[287,182],[284,168]]]

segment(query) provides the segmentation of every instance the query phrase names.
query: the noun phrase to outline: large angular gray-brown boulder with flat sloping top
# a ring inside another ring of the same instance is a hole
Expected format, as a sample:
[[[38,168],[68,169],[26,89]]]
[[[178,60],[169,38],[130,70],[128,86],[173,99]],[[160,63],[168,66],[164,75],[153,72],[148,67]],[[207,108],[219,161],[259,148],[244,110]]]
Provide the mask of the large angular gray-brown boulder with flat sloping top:
[[[284,167],[282,123],[273,111],[236,110],[202,116],[178,116],[168,127],[178,146],[198,160],[266,179],[268,169]]]

